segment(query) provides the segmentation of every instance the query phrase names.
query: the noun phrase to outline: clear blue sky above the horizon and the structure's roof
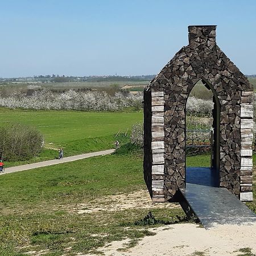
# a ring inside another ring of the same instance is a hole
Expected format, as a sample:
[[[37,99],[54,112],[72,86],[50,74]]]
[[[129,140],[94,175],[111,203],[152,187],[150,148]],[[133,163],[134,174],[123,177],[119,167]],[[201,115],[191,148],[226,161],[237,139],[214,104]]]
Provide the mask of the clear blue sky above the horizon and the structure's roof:
[[[195,24],[256,74],[255,0],[0,0],[0,24],[0,77],[156,74]]]

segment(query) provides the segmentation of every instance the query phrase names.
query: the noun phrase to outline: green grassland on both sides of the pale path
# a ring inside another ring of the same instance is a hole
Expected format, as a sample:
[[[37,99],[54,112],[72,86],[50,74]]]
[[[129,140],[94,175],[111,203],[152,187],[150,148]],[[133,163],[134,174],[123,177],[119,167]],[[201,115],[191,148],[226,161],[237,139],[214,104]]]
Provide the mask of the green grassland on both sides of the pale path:
[[[138,224],[149,211],[161,225],[187,221],[179,205],[152,204],[148,196],[142,149],[129,143],[131,126],[142,122],[141,111],[0,112],[2,124],[21,122],[44,135],[45,148],[31,162],[54,158],[59,147],[68,156],[113,148],[115,139],[121,142],[112,155],[1,176],[0,255],[102,254],[101,247],[112,241],[129,239],[129,249],[142,237],[154,236],[151,226]],[[197,155],[188,156],[186,163],[208,167],[209,162],[209,155]],[[253,185],[254,202],[247,205],[256,212]]]

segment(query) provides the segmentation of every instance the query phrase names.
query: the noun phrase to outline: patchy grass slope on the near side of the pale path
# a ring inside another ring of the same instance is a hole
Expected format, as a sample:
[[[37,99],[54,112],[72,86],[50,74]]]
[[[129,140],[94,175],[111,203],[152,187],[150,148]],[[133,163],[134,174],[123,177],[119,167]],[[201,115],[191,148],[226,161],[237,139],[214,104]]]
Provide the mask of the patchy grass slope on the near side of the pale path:
[[[82,210],[106,208],[118,205],[113,195],[122,194],[125,201],[125,195],[146,189],[142,168],[142,155],[131,152],[1,176],[0,255],[86,254],[127,237],[134,245],[152,235],[134,224],[149,210],[161,220],[178,221],[176,215],[184,216],[180,208],[137,208],[138,198],[133,208],[77,212],[80,204]]]

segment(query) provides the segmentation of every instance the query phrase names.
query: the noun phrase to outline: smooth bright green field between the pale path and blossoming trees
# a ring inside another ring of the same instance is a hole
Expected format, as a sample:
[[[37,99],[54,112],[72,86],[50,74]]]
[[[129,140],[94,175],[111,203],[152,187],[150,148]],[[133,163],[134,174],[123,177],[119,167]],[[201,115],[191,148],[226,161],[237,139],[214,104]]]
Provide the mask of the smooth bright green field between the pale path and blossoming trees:
[[[129,137],[123,134],[127,129],[129,134],[133,123],[143,119],[142,112],[134,111],[111,113],[0,108],[0,113],[2,125],[21,122],[36,127],[44,135],[47,150],[28,162],[52,159],[57,156],[59,147],[64,148],[64,156],[113,148],[115,139],[121,144],[129,141]],[[9,166],[14,164],[17,163],[9,163]]]

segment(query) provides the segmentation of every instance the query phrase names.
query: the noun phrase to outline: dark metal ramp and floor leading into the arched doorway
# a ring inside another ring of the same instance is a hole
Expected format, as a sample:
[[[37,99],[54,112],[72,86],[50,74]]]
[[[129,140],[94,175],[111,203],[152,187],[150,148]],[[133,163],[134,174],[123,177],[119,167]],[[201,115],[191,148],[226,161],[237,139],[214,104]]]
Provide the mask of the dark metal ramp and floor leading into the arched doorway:
[[[216,171],[200,167],[187,168],[186,171],[186,188],[180,189],[180,192],[188,209],[196,214],[205,228],[221,224],[250,225],[256,222],[256,214],[244,203],[228,189],[217,187]]]

